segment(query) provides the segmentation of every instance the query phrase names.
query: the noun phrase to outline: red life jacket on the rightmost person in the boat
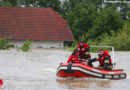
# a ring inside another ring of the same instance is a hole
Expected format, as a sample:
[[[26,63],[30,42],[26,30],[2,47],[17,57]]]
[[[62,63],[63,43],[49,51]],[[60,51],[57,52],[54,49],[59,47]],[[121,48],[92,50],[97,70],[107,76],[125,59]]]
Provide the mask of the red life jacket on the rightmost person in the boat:
[[[109,52],[108,51],[104,51],[104,54],[103,54],[103,56],[101,56],[101,57],[99,57],[98,58],[98,60],[99,60],[99,63],[100,63],[100,66],[104,66],[104,64],[105,64],[105,58],[107,57],[107,56],[110,56],[109,55]],[[109,59],[109,64],[108,64],[109,66],[110,65],[112,65],[112,60],[111,60],[111,58]]]

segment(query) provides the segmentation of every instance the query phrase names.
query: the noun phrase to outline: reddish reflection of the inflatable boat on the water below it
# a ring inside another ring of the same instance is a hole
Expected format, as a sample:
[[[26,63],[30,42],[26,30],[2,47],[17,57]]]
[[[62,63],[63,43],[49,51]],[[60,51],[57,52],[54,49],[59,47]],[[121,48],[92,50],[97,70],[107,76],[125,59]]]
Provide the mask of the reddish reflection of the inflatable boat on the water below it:
[[[69,90],[72,89],[91,89],[96,87],[101,88],[110,88],[111,80],[101,80],[101,79],[87,79],[87,78],[58,78],[56,79],[57,83],[61,88],[67,88]]]

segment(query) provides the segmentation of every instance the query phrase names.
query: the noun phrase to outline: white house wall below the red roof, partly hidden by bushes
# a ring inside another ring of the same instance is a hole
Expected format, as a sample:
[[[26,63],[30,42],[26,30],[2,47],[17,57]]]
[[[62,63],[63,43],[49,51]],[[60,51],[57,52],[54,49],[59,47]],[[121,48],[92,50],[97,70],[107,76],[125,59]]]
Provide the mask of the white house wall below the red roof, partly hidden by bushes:
[[[10,45],[15,47],[21,47],[23,45],[23,40],[11,40]],[[64,41],[33,41],[31,47],[36,48],[62,48],[64,47]]]

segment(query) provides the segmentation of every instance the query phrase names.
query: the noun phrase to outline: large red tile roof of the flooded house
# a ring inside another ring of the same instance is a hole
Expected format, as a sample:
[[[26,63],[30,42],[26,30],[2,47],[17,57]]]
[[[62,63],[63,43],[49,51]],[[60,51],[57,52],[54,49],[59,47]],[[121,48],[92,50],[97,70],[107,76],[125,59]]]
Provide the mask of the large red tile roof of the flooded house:
[[[0,7],[0,38],[74,40],[67,22],[51,8]]]

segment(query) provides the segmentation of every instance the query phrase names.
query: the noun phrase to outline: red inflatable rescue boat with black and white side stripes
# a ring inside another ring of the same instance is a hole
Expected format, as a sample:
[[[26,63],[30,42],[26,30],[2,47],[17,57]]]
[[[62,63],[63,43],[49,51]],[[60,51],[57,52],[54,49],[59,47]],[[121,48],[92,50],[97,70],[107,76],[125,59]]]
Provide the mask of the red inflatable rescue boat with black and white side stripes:
[[[122,69],[101,70],[78,63],[61,63],[57,69],[58,77],[92,77],[102,79],[125,79],[126,73]]]

